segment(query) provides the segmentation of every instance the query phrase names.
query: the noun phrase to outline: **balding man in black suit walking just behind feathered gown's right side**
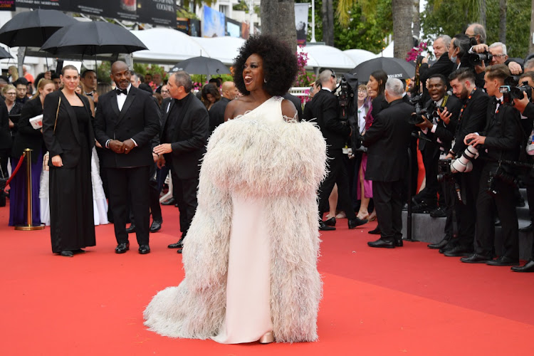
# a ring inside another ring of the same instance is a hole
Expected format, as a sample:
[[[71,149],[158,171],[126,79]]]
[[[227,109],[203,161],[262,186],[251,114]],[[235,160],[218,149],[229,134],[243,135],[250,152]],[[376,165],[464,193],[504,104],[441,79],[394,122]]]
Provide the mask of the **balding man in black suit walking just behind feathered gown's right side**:
[[[367,223],[367,220],[358,219],[352,208],[347,169],[343,164],[342,148],[345,147],[350,137],[350,126],[339,120],[337,98],[333,94],[336,87],[335,73],[329,69],[323,70],[319,74],[319,79],[323,88],[314,95],[309,106],[306,106],[309,110],[306,110],[304,116],[306,121],[317,119],[320,130],[325,137],[328,147],[327,155],[330,158],[328,175],[319,187],[319,229],[322,231],[335,230],[333,227],[335,217],[328,220],[330,226],[323,221],[323,211],[326,209],[328,197],[330,197],[335,183],[337,183],[338,206],[345,209],[349,229],[355,229],[356,226]]]

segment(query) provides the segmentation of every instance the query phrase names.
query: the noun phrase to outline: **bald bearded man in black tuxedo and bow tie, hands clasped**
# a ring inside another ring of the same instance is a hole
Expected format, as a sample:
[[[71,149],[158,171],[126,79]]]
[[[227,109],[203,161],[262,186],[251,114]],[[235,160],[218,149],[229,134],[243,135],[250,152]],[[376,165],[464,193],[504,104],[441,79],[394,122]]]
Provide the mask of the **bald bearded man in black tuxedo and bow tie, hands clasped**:
[[[113,63],[111,78],[117,89],[98,100],[95,137],[107,149],[100,164],[108,172],[110,209],[117,239],[115,252],[125,253],[130,249],[126,232],[130,201],[139,253],[145,254],[150,252],[148,184],[150,164],[154,164],[150,140],[159,132],[158,108],[152,95],[131,85],[126,63]]]

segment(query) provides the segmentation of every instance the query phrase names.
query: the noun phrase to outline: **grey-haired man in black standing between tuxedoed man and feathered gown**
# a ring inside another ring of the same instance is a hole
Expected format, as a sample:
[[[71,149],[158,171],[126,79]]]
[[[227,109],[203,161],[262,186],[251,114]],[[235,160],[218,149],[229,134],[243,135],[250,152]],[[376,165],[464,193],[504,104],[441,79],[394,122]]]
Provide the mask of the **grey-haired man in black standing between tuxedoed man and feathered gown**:
[[[162,120],[160,141],[163,143],[156,146],[154,152],[160,155],[158,166],[171,164],[177,177],[172,184],[173,189],[177,188],[182,237],[168,247],[178,248],[178,253],[182,253],[184,237],[197,211],[200,160],[206,153],[209,115],[204,104],[191,93],[189,74],[184,71],[173,73],[167,85],[172,100]]]

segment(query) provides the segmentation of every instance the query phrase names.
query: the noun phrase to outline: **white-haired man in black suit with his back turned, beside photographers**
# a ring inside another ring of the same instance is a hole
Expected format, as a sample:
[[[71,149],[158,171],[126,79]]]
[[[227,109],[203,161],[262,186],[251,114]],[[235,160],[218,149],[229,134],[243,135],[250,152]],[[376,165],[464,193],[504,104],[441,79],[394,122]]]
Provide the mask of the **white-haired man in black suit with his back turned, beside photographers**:
[[[403,94],[401,80],[389,78],[384,90],[389,107],[379,112],[363,135],[369,157],[365,179],[372,180],[372,197],[380,221],[380,239],[367,242],[371,247],[402,246],[402,190],[414,129],[409,120],[415,111],[402,100]]]

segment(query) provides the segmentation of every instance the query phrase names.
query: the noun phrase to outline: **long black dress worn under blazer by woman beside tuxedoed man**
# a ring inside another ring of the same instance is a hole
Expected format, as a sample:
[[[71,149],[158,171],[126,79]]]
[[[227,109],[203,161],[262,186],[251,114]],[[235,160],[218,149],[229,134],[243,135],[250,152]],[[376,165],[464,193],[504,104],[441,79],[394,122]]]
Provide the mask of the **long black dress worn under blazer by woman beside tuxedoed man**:
[[[96,244],[88,139],[91,117],[83,106],[71,108],[78,122],[82,147],[75,167],[50,167],[50,229],[54,253],[75,251]]]

